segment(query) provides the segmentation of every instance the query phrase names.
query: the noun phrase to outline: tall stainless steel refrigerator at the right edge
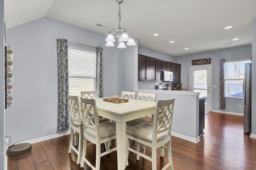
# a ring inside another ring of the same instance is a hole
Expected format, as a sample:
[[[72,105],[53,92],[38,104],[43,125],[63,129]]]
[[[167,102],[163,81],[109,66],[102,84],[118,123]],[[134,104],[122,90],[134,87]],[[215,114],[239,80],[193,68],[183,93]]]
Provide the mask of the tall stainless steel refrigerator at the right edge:
[[[251,133],[252,129],[252,109],[251,109],[251,96],[252,96],[252,64],[245,64],[244,74],[244,132]]]

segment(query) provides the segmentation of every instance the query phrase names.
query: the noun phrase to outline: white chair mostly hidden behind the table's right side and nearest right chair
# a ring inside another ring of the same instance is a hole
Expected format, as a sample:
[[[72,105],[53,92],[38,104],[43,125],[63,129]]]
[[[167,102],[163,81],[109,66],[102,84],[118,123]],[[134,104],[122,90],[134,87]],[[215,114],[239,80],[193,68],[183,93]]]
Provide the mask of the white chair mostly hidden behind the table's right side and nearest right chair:
[[[150,102],[156,102],[156,93],[143,93],[138,92],[138,100],[144,100],[144,101],[150,101]],[[153,115],[154,113],[152,113]],[[152,123],[152,118],[148,116],[140,117],[138,119],[134,119],[131,121],[126,122],[127,127],[132,127],[135,125],[139,125],[141,123]],[[145,145],[142,145],[143,153],[145,153]],[[136,143],[136,150],[140,150],[140,143]],[[140,156],[137,154],[136,159],[139,160]]]

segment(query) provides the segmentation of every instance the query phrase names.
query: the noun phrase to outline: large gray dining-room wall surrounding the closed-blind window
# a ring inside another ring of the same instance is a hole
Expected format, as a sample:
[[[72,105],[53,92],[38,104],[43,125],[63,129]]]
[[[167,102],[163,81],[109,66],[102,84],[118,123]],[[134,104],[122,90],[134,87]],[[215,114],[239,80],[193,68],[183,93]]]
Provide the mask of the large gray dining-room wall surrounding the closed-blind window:
[[[47,17],[10,28],[6,33],[7,44],[14,51],[14,103],[6,110],[6,135],[12,136],[12,143],[66,131],[58,130],[57,126],[56,39],[104,48],[104,96],[132,90],[138,80],[133,64],[138,61],[137,46],[122,50],[106,47],[106,35]]]

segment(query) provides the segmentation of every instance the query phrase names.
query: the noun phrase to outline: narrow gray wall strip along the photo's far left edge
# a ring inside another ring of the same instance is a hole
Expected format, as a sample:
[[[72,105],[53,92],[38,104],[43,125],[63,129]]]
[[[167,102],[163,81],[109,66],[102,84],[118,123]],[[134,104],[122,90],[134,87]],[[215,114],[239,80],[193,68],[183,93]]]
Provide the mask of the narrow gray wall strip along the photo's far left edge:
[[[5,156],[5,134],[4,134],[4,0],[0,0],[0,169],[4,169],[4,156]]]

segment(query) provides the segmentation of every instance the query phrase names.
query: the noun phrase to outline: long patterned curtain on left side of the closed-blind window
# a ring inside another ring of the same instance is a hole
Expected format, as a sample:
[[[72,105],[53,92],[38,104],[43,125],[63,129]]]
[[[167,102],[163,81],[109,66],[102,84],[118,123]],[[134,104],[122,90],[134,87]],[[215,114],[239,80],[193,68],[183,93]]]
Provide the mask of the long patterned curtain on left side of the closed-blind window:
[[[68,108],[68,40],[58,39],[58,89],[59,89],[59,129],[68,129],[69,108]]]

